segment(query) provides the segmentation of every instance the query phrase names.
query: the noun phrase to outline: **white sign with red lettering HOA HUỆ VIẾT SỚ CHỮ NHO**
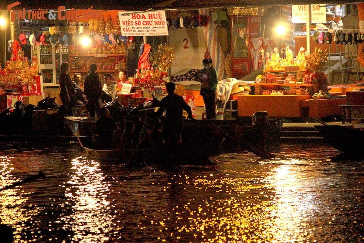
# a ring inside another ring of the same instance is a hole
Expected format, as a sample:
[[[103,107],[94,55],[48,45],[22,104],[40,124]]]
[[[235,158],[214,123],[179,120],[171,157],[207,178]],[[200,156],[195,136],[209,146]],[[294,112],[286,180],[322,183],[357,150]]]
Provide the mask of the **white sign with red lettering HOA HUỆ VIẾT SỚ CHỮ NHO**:
[[[119,12],[123,36],[168,35],[166,14],[154,12]]]

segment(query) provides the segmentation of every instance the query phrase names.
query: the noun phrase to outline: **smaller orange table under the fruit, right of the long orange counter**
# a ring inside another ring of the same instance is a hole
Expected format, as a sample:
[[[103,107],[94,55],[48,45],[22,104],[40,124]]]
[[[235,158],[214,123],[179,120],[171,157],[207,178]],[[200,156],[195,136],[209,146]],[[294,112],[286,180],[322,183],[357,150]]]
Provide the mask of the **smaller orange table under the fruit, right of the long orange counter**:
[[[328,115],[341,115],[342,110],[338,105],[344,105],[346,99],[304,99],[302,107],[308,107],[308,117],[327,117]]]

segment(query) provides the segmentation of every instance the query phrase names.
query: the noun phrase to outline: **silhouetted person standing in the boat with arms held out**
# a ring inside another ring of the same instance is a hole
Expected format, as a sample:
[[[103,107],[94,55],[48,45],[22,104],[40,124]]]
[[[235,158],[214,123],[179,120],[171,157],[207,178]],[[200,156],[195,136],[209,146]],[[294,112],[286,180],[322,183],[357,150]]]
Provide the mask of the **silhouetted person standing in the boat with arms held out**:
[[[161,116],[166,111],[165,134],[166,142],[169,145],[181,144],[181,133],[183,125],[183,110],[192,117],[191,107],[187,105],[182,96],[174,93],[176,85],[172,82],[166,84],[167,96],[161,100],[159,109],[153,116]]]

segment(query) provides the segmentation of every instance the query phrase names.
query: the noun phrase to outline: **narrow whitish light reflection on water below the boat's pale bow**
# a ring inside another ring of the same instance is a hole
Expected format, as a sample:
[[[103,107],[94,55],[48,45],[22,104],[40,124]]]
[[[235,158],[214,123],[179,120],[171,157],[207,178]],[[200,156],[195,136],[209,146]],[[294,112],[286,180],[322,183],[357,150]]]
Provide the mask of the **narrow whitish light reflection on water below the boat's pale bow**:
[[[70,242],[106,242],[114,229],[113,205],[107,200],[110,184],[105,180],[100,164],[82,157],[72,160],[73,173],[64,185],[66,200],[63,207],[72,207],[70,215],[61,217],[63,229],[72,231]]]

